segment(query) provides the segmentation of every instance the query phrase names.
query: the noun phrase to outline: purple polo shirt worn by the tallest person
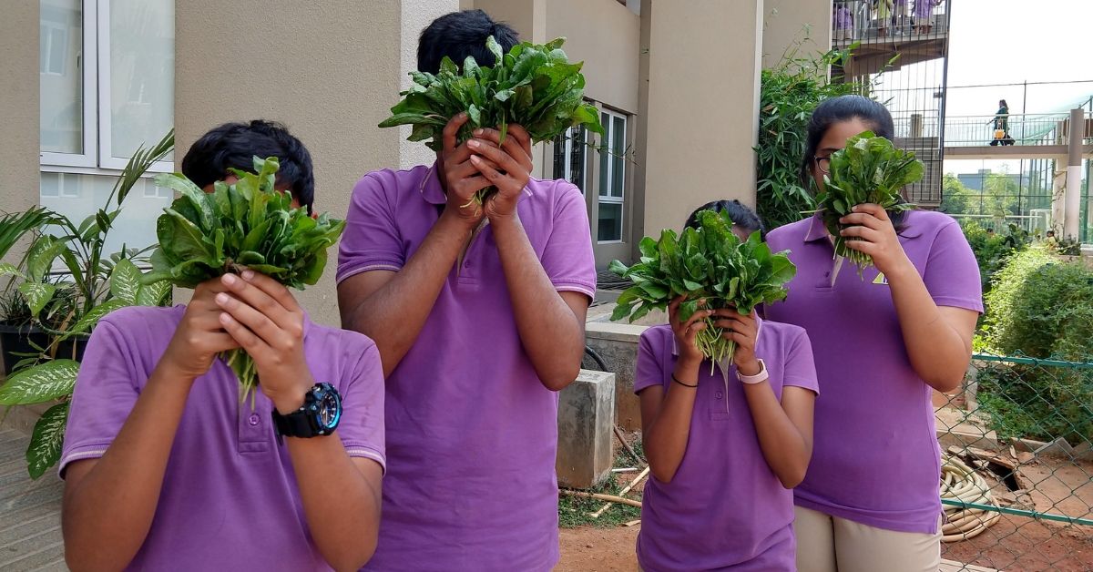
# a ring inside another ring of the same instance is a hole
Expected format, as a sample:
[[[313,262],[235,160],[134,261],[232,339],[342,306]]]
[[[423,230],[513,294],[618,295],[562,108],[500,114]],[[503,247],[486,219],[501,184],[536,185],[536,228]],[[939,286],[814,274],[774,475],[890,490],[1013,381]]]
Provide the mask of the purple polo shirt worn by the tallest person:
[[[439,218],[435,171],[377,171],[353,189],[339,282],[398,271]],[[531,179],[518,212],[554,288],[596,291],[585,201]],[[384,520],[368,570],[545,571],[559,558],[557,395],[524,352],[486,225],[387,377]]]

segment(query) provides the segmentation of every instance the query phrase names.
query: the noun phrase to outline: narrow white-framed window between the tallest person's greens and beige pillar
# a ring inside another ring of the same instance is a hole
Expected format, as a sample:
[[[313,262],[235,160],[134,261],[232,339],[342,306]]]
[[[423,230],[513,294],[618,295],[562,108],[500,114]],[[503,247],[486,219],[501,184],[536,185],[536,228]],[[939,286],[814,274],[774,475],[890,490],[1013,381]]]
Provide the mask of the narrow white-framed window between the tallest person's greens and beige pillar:
[[[600,154],[599,213],[596,240],[622,242],[626,188],[626,117],[602,112],[603,142]]]

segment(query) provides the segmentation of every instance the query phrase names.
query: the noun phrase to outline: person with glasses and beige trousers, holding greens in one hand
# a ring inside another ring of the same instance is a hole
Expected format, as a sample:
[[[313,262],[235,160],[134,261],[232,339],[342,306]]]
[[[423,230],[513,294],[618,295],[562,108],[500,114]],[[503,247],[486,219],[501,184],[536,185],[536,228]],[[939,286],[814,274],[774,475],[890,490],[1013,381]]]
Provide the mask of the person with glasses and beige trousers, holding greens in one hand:
[[[833,155],[866,131],[892,138],[883,105],[858,95],[820,104],[802,183],[823,191]],[[791,252],[798,272],[766,316],[808,330],[824,392],[812,463],[795,491],[797,565],[936,571],[940,451],[931,395],[960,387],[971,361],[983,312],[978,266],[960,225],[940,212],[856,205],[838,223],[846,246],[871,257],[860,275],[837,272],[823,212],[768,236],[772,248]]]

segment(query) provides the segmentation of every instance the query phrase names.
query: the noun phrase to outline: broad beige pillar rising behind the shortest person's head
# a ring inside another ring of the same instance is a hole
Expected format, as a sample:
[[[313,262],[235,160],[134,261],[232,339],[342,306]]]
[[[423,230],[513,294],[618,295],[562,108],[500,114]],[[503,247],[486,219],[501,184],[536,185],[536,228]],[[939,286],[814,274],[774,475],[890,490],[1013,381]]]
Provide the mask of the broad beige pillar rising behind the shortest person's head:
[[[679,229],[695,207],[714,199],[754,205],[763,5],[643,3],[648,82],[638,110],[645,139],[636,147],[638,178],[645,178],[644,234]]]

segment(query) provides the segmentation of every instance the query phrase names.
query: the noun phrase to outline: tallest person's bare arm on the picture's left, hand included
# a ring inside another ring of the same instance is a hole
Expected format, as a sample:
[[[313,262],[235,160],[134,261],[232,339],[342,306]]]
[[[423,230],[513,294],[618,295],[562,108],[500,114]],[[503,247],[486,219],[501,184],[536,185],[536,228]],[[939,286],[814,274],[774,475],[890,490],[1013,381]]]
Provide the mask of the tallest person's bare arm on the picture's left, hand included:
[[[342,327],[376,342],[385,376],[418,339],[453,265],[482,220],[481,209],[463,208],[474,192],[490,185],[470,163],[467,144],[456,144],[456,135],[466,122],[467,115],[460,114],[444,129],[444,151],[437,164],[448,202],[406,266],[398,271],[365,271],[338,284]]]

